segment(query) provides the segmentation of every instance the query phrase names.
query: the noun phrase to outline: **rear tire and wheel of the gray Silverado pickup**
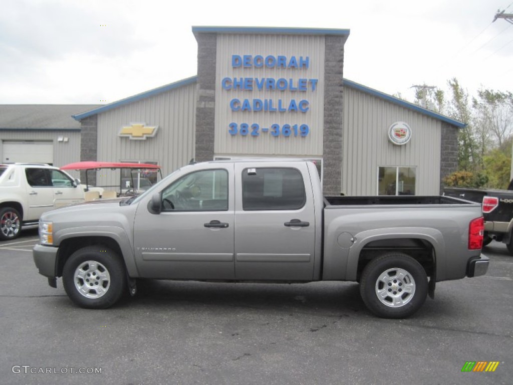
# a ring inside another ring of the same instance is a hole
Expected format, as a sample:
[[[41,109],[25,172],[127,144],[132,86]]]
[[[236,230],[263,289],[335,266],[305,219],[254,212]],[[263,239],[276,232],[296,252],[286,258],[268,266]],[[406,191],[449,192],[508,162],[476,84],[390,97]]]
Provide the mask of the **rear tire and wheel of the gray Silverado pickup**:
[[[427,275],[419,262],[403,253],[388,253],[365,266],[360,295],[378,317],[406,318],[422,306],[427,288]]]

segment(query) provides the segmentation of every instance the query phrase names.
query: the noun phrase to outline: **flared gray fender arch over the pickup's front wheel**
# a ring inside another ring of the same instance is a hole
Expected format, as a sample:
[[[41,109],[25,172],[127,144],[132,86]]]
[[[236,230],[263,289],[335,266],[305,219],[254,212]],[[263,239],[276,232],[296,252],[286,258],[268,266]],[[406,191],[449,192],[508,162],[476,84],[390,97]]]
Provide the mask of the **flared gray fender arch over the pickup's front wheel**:
[[[130,277],[139,276],[137,266],[135,265],[132,241],[125,232],[125,229],[117,226],[69,227],[59,230],[55,234],[55,238],[58,239],[59,244],[66,239],[84,237],[107,237],[114,240],[120,246],[128,275]]]

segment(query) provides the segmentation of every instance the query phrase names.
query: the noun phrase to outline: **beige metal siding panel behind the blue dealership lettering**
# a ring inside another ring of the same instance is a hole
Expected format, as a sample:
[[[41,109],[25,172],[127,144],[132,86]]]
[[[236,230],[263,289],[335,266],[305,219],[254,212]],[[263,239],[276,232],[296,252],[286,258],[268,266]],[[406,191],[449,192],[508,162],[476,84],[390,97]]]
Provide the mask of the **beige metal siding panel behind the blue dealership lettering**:
[[[322,156],[323,153],[323,121],[324,121],[324,36],[294,36],[294,35],[236,35],[219,34],[216,56],[216,91],[215,91],[215,155],[281,155],[281,156]],[[285,55],[309,56],[308,69],[272,69],[272,68],[232,68],[232,55]],[[297,86],[300,78],[318,79],[317,89],[311,91],[279,91],[258,90],[254,85],[253,91],[224,90],[221,81],[224,78],[285,78],[293,79]],[[307,112],[233,112],[230,100],[240,99],[272,99],[274,107],[278,99],[282,99],[288,107],[291,99],[298,103],[305,99],[309,101]],[[231,122],[258,123],[260,136],[250,134],[243,137],[240,134],[231,136],[228,125]],[[307,137],[272,137],[262,128],[271,124],[308,124],[310,132]]]

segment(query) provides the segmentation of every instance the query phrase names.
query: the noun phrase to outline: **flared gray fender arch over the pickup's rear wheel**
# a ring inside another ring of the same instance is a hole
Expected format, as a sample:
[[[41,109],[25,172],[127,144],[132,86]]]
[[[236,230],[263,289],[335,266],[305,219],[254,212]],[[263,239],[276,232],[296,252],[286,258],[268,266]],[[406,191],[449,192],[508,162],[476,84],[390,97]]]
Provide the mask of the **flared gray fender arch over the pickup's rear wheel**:
[[[391,227],[366,230],[354,236],[354,244],[349,249],[346,267],[346,280],[356,281],[358,260],[362,249],[370,242],[385,239],[422,239],[429,242],[435,250],[437,275],[446,268],[445,241],[443,234],[430,227]]]

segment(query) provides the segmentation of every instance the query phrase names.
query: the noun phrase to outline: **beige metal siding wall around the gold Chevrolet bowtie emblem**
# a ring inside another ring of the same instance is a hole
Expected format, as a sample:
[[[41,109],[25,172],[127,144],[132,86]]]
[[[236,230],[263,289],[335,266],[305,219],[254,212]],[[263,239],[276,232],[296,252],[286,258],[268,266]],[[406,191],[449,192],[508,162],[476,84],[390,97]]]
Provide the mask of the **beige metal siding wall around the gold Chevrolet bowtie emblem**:
[[[98,115],[98,161],[153,161],[164,176],[194,157],[196,84],[165,92]],[[130,123],[159,126],[154,138],[130,140],[118,133]],[[119,183],[119,172],[105,172],[98,184]]]

